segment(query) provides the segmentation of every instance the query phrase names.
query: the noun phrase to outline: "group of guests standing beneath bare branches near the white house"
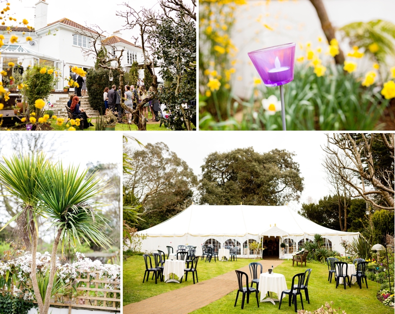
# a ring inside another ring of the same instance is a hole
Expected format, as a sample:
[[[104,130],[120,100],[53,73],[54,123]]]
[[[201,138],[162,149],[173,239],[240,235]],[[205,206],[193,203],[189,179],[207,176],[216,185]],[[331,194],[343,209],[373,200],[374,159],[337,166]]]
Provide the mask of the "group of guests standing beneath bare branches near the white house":
[[[124,93],[124,104],[136,109],[137,105],[140,104],[147,96],[150,96],[153,93],[152,86],[145,90],[144,80],[139,79],[137,82],[137,88],[134,85],[125,85],[125,93]],[[121,87],[118,89],[116,85],[112,85],[111,89],[106,87],[103,92],[103,100],[106,110],[110,109],[113,112],[117,112],[118,116],[122,115],[123,109],[121,108]],[[143,105],[142,113],[145,119],[148,120],[148,108],[151,110],[152,121],[156,121],[158,119],[158,111],[159,111],[159,102],[157,100],[152,100]],[[126,118],[129,123],[132,123],[132,113],[125,110]],[[122,123],[120,121],[120,123]]]

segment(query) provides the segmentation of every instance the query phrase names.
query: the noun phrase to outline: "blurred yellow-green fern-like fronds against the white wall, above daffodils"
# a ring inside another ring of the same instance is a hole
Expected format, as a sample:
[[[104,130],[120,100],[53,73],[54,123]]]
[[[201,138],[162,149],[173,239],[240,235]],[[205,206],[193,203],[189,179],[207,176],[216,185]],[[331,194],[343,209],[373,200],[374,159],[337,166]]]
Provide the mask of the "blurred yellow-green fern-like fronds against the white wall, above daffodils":
[[[395,24],[373,20],[369,22],[354,22],[340,28],[344,36],[350,39],[352,45],[365,48],[367,54],[373,55],[377,61],[385,63],[387,55],[395,56]],[[376,43],[377,52],[370,52],[369,45]]]

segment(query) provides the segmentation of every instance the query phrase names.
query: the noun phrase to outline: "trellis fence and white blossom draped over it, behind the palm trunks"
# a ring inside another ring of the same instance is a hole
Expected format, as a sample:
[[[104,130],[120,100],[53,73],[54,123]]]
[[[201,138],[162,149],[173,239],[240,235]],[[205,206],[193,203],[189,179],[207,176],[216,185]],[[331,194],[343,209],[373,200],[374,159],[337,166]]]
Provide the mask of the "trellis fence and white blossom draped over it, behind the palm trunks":
[[[120,266],[92,261],[82,253],[72,263],[57,261],[51,304],[67,307],[117,310],[120,307]],[[50,254],[37,252],[38,283],[49,276]],[[32,255],[0,263],[0,291],[35,301],[30,280]]]

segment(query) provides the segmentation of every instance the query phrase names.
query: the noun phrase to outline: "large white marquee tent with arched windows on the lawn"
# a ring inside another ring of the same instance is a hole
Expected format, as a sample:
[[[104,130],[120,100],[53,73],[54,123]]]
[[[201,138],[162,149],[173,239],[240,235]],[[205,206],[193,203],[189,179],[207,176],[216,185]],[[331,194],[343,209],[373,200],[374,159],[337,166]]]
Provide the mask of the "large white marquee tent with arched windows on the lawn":
[[[202,254],[201,245],[213,244],[239,246],[241,255],[250,255],[248,243],[262,237],[277,239],[288,244],[286,251],[279,250],[280,258],[290,258],[304,241],[314,240],[315,234],[324,238],[327,248],[344,253],[341,239],[352,241],[359,232],[342,232],[325,228],[301,216],[287,206],[213,206],[191,205],[176,216],[139,232],[146,235],[142,242],[143,252],[162,250],[166,246],[197,246],[196,255]],[[267,238],[265,238],[267,239]]]

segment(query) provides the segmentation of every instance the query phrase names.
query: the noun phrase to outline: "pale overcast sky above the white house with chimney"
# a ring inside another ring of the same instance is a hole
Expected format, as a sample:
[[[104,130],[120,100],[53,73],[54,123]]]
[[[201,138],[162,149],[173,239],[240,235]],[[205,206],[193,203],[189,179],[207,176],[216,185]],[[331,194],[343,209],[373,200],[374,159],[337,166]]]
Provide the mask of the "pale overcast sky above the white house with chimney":
[[[20,22],[25,18],[29,21],[29,25],[34,26],[34,7],[37,2],[38,0],[10,0],[9,3],[11,5],[9,13],[17,19],[17,22]],[[66,17],[83,26],[96,24],[100,26],[103,31],[108,32],[106,35],[111,35],[113,32],[122,29],[125,24],[122,18],[115,15],[116,11],[122,11],[122,6],[119,4],[129,2],[129,4],[133,5],[136,10],[141,6],[160,10],[157,0],[46,0],[45,2],[48,3],[48,24]],[[132,35],[135,35],[130,31],[123,31],[122,34],[122,37],[129,41],[132,41],[131,37]]]

